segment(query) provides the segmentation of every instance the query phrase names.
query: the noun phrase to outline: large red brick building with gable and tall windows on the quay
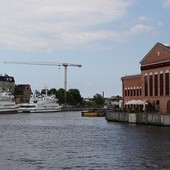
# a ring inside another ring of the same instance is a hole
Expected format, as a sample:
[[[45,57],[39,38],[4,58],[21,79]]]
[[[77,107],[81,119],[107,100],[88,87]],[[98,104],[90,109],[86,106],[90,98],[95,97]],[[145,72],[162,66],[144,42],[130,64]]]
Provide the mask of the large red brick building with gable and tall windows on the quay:
[[[121,78],[123,108],[130,100],[142,100],[147,111],[170,114],[170,46],[156,43],[140,64],[141,74]]]

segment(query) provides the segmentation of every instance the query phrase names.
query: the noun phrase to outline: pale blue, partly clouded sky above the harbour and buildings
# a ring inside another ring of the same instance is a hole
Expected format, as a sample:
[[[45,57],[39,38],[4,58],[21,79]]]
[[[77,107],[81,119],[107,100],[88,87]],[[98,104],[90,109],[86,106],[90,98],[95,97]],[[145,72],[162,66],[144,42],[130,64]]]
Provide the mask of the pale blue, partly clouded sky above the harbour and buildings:
[[[122,95],[121,77],[160,42],[170,44],[170,0],[0,0],[0,74],[31,89],[64,88],[82,97]]]

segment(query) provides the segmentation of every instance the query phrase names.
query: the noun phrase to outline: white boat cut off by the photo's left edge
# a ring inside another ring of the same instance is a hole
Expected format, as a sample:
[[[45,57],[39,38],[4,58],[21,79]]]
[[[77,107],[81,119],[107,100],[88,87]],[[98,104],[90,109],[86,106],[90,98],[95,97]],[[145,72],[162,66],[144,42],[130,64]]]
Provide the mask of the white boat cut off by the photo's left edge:
[[[18,113],[18,108],[10,92],[0,92],[0,114],[6,113]]]

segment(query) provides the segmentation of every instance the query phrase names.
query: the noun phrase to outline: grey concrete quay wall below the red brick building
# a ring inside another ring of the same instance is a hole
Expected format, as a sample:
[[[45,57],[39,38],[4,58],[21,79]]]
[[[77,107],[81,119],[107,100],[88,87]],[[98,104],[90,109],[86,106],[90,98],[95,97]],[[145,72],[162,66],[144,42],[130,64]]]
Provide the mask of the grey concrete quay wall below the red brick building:
[[[170,126],[170,115],[159,113],[107,112],[105,118],[114,122]]]

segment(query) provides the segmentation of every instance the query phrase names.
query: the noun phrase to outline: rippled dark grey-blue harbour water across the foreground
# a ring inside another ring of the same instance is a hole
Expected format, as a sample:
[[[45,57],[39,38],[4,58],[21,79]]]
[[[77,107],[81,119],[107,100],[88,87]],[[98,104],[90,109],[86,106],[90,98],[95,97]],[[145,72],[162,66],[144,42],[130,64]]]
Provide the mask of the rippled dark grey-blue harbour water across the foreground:
[[[80,112],[0,115],[0,170],[170,169],[170,127]]]

